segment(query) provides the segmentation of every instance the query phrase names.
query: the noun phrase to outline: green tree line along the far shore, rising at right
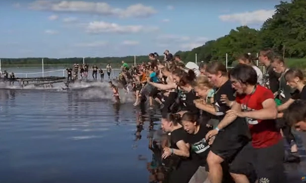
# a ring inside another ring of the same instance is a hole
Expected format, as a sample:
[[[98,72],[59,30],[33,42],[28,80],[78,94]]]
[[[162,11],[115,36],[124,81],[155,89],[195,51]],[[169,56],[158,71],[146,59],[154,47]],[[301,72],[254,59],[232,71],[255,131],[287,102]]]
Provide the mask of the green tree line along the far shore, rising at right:
[[[178,51],[183,61],[197,60],[228,61],[231,64],[243,53],[257,53],[261,48],[270,47],[279,54],[289,58],[306,57],[306,0],[281,1],[275,6],[275,14],[267,19],[259,30],[247,26],[237,27],[216,40],[190,51]],[[40,64],[42,58],[2,58],[2,64]],[[162,59],[162,57],[161,57]],[[125,57],[88,57],[86,63],[119,64],[124,60],[134,63],[134,56]],[[147,55],[136,56],[137,63],[148,60]],[[83,63],[83,58],[44,58],[45,64]]]

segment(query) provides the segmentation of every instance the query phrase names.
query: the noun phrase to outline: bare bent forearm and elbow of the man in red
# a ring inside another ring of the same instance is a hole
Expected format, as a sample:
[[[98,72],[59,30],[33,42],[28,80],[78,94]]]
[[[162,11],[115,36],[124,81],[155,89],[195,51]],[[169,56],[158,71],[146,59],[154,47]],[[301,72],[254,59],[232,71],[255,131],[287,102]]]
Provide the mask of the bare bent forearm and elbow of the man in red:
[[[277,118],[277,108],[274,99],[269,98],[262,102],[262,109],[242,112],[241,117],[257,120],[269,120]]]

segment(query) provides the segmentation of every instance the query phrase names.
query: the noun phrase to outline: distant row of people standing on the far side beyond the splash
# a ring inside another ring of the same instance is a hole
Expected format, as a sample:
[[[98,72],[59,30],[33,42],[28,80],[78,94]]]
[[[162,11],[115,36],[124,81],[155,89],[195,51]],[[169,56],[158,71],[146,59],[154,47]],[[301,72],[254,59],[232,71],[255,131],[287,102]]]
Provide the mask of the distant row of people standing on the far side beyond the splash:
[[[85,64],[74,64],[72,68],[67,68],[67,79],[68,80],[78,80],[78,73],[80,73],[80,79],[81,80],[87,80],[88,79],[88,70],[89,66]],[[99,72],[101,80],[104,80],[104,70],[102,68],[98,68],[97,65],[94,65],[92,68],[92,77],[94,80],[97,80],[97,74]],[[111,64],[107,64],[106,66],[106,73],[108,75],[108,79],[111,79],[111,72],[112,72],[112,66]]]

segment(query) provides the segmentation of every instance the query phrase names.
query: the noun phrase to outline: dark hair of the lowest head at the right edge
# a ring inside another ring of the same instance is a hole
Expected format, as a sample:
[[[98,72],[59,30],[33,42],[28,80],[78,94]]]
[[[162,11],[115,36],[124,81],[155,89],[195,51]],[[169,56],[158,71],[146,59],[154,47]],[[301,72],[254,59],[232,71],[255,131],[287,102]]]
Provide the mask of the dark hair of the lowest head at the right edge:
[[[295,100],[285,111],[284,120],[290,126],[306,120],[306,100]]]

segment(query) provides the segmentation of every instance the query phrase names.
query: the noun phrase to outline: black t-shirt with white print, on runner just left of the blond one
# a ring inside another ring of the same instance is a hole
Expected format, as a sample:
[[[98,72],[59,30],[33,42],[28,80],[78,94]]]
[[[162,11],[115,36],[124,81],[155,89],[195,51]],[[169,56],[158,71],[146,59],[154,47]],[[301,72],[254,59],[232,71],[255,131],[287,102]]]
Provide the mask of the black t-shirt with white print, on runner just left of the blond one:
[[[195,104],[193,103],[193,100],[195,99],[198,99],[198,97],[195,95],[195,92],[193,90],[191,90],[190,92],[183,92],[181,95],[182,110],[199,114],[199,109],[196,108]]]

